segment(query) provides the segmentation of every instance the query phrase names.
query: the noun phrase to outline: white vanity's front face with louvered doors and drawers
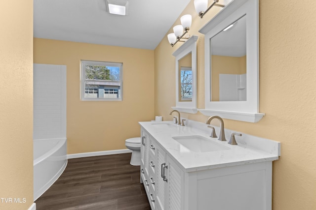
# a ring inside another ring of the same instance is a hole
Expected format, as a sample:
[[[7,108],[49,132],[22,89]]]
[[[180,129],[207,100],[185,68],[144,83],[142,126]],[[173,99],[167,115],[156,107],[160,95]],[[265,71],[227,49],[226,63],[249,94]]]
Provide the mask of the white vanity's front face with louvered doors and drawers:
[[[183,209],[183,171],[153,137],[144,130],[141,133],[145,136],[145,145],[141,147],[141,181],[152,210]]]

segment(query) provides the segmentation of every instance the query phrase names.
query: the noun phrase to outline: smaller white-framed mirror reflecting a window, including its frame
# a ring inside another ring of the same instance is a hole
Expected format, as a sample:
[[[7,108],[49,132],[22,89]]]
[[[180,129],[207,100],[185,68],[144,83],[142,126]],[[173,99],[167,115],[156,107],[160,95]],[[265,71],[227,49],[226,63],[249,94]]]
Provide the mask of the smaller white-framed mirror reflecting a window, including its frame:
[[[197,113],[197,36],[190,37],[172,55],[176,58],[176,106],[179,112]]]

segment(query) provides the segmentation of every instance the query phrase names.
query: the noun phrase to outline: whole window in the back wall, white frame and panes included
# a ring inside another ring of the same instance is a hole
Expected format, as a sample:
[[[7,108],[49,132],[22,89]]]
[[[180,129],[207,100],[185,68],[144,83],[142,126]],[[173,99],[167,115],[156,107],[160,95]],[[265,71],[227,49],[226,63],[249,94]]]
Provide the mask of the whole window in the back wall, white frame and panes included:
[[[122,63],[81,60],[81,100],[122,100]]]

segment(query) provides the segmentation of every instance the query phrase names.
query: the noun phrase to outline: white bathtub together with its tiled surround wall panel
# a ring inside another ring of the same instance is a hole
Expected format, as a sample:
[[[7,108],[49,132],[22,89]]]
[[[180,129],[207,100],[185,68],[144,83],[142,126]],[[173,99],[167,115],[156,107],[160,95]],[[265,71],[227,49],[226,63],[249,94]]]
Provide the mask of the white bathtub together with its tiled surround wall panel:
[[[66,79],[65,65],[33,65],[34,201],[67,166]]]

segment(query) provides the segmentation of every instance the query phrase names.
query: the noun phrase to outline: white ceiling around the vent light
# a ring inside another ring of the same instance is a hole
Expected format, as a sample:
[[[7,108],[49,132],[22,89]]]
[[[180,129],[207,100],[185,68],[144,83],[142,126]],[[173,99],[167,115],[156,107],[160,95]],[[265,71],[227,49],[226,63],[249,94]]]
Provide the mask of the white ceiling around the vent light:
[[[190,2],[128,1],[121,16],[105,0],[34,0],[34,37],[153,50]]]

